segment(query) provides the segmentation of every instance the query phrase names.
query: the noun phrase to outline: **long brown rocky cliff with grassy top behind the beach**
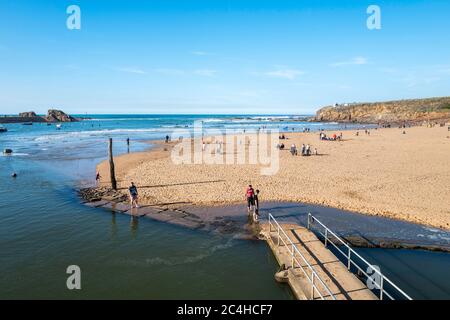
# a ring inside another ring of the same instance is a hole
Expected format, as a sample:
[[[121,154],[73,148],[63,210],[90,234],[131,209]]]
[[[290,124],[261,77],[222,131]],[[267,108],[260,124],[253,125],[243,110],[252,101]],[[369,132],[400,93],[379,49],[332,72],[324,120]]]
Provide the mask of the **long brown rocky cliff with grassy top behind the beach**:
[[[450,97],[356,103],[325,107],[317,111],[316,121],[386,123],[450,119]]]

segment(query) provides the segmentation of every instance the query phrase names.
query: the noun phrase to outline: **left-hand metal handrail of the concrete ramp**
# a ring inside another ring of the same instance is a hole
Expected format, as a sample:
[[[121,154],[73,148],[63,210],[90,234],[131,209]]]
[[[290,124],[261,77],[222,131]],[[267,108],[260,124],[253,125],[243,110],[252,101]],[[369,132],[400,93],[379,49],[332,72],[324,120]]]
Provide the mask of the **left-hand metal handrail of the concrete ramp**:
[[[314,292],[316,291],[319,294],[320,298],[322,300],[325,300],[325,297],[322,295],[322,293],[320,292],[320,290],[318,289],[318,287],[315,283],[315,279],[317,279],[319,281],[319,283],[322,285],[322,287],[325,289],[325,291],[329,294],[329,296],[333,300],[336,300],[336,297],[334,296],[333,293],[331,293],[330,288],[328,288],[328,286],[325,284],[325,282],[322,280],[322,278],[319,276],[319,274],[316,272],[316,270],[313,268],[313,266],[311,266],[311,264],[309,264],[309,262],[306,260],[305,256],[300,252],[300,250],[297,248],[297,246],[291,241],[291,239],[286,234],[286,232],[283,230],[283,228],[280,226],[278,221],[270,213],[269,213],[269,236],[270,236],[270,233],[272,232],[272,221],[274,222],[274,224],[277,227],[277,235],[278,235],[277,246],[278,247],[280,246],[280,240],[281,240],[281,242],[284,244],[284,246],[287,248],[288,252],[291,255],[291,268],[295,269],[296,263],[297,263],[298,266],[300,267],[300,269],[303,271],[303,274],[305,275],[306,279],[311,284],[311,298],[314,299],[314,296],[315,296]],[[284,235],[286,237],[288,243],[286,243],[286,241],[284,241],[284,239],[281,235]],[[289,245],[291,246],[291,250],[289,250]],[[302,259],[302,261],[306,265],[307,269],[309,269],[309,271],[311,273],[311,277],[305,271],[303,265],[297,260],[296,254]]]

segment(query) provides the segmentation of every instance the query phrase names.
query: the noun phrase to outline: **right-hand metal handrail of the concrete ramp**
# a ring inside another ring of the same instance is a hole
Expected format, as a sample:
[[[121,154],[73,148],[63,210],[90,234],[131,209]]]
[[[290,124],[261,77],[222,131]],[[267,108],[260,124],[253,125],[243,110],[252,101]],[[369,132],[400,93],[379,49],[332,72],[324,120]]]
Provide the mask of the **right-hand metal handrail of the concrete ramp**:
[[[347,269],[349,271],[351,271],[351,266],[355,266],[360,272],[362,272],[368,279],[371,278],[371,276],[369,276],[355,261],[352,260],[352,256],[356,256],[358,257],[362,262],[364,262],[367,266],[369,267],[370,270],[372,270],[373,272],[377,273],[380,277],[380,283],[378,284],[376,281],[372,281],[373,284],[377,287],[377,289],[380,290],[380,300],[383,300],[384,295],[386,295],[387,297],[389,297],[391,300],[395,300],[394,297],[389,294],[385,287],[384,287],[384,283],[387,282],[389,283],[394,289],[396,289],[398,291],[398,293],[400,293],[404,298],[406,298],[407,300],[412,300],[412,298],[406,294],[402,289],[400,289],[397,285],[395,285],[389,278],[387,278],[385,275],[383,275],[377,268],[375,268],[372,264],[370,264],[369,262],[367,262],[366,259],[364,259],[363,257],[361,257],[361,255],[359,255],[355,250],[353,250],[344,240],[342,240],[342,238],[340,238],[338,235],[336,235],[333,231],[331,231],[330,228],[328,228],[326,225],[324,225],[320,220],[318,220],[316,217],[314,217],[311,213],[308,214],[308,230],[311,230],[311,224],[313,224],[314,222],[317,222],[319,225],[321,225],[324,230],[325,230],[325,234],[318,231],[323,237],[324,237],[324,244],[325,246],[327,246],[328,243],[331,243],[336,250],[338,250],[344,257],[347,258]],[[345,253],[343,252],[333,241],[330,241],[331,239],[329,239],[329,235],[332,235],[334,238],[336,238],[336,240],[338,240],[342,245],[344,245],[348,251]],[[366,268],[367,270],[367,268]]]

